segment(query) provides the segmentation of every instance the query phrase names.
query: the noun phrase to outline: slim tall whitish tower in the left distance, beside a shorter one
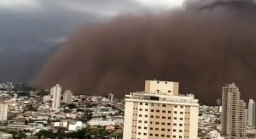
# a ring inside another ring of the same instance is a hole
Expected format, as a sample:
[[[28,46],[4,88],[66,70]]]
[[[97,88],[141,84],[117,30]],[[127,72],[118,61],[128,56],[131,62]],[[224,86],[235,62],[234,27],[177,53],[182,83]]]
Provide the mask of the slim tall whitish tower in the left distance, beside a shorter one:
[[[61,86],[56,84],[50,88],[50,93],[53,94],[52,108],[60,108],[61,105]]]

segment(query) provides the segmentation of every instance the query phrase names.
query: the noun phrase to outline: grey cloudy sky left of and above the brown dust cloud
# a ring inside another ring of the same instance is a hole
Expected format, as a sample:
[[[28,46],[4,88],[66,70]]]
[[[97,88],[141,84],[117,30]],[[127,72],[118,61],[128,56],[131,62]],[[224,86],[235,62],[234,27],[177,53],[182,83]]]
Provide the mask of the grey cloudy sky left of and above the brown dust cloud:
[[[29,82],[84,25],[159,13],[184,0],[0,0],[0,81]]]

